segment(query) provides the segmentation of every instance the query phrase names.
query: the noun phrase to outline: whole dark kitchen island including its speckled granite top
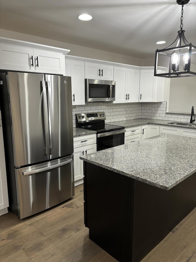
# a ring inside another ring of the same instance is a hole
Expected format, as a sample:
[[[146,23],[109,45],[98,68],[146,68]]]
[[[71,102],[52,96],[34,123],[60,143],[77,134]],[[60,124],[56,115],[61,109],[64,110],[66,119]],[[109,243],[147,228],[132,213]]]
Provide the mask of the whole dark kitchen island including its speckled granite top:
[[[138,262],[196,206],[196,139],[159,135],[81,157],[89,238]]]

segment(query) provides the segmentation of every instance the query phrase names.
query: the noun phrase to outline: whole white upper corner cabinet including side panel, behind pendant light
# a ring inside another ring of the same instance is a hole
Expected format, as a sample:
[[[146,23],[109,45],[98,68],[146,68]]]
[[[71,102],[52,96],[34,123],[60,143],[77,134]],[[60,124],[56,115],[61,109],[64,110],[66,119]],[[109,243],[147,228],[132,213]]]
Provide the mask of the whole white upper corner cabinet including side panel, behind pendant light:
[[[163,95],[164,77],[154,76],[154,70],[140,70],[139,102],[161,102]]]

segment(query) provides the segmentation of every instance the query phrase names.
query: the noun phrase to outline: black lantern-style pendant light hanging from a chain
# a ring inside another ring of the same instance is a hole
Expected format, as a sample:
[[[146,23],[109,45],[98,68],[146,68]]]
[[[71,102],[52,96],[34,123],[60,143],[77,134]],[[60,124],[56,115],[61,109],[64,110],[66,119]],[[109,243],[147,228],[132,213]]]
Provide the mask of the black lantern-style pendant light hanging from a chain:
[[[196,76],[196,46],[187,41],[183,30],[183,7],[190,0],[177,0],[177,4],[182,6],[180,30],[176,39],[165,49],[157,49],[155,54],[155,76],[162,77],[183,77]],[[191,63],[191,61],[193,63]],[[162,74],[158,73],[157,67],[166,67]]]

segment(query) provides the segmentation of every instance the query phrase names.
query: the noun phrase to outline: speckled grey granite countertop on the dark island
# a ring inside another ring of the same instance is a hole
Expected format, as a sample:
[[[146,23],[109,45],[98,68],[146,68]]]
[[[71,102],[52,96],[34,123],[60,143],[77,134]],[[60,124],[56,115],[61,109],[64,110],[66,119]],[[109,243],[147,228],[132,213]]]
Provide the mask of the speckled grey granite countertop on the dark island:
[[[161,134],[97,151],[80,159],[170,190],[196,172],[196,139]]]

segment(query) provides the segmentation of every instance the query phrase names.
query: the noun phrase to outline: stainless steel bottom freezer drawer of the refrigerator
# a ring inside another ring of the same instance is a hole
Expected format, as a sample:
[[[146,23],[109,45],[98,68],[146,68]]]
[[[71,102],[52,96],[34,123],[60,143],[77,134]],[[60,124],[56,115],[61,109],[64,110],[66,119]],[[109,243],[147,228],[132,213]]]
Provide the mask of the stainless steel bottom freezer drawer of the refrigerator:
[[[21,219],[74,196],[73,155],[15,169],[15,176]]]

